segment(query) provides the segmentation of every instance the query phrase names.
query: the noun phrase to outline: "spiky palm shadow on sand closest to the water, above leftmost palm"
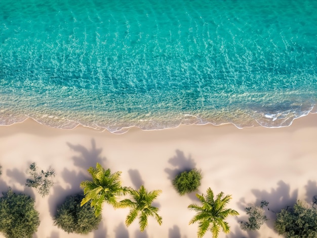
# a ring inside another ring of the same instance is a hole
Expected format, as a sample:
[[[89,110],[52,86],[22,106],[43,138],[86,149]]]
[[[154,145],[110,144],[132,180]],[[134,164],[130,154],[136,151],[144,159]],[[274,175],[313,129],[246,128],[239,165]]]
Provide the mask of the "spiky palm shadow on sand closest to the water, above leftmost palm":
[[[101,164],[106,160],[105,157],[101,157],[101,148],[96,148],[96,142],[94,139],[91,140],[92,148],[87,149],[83,145],[73,145],[67,142],[67,145],[75,152],[80,153],[79,156],[73,156],[72,160],[74,165],[87,171],[90,167],[95,167],[97,163]]]

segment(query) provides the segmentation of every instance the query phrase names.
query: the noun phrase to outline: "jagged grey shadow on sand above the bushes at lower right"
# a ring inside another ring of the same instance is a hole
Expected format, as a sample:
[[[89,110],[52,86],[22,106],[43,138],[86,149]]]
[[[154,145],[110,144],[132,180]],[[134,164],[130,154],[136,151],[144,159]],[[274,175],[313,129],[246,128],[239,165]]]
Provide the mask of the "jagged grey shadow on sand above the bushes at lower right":
[[[264,211],[266,217],[268,218],[266,224],[271,229],[274,229],[273,221],[276,218],[276,213],[281,212],[282,209],[293,207],[296,203],[298,189],[294,190],[292,193],[290,190],[290,185],[286,184],[282,180],[278,182],[278,188],[271,188],[271,192],[252,189],[252,192],[257,199],[255,204],[260,204],[263,200],[269,202],[267,209],[264,209]]]

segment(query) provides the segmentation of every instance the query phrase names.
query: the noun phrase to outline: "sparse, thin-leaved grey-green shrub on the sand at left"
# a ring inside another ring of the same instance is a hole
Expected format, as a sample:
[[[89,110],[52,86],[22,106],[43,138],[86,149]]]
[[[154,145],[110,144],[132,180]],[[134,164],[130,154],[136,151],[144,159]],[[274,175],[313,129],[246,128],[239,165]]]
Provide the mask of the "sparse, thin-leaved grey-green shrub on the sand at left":
[[[55,177],[55,170],[50,169],[46,172],[42,170],[38,173],[36,163],[32,163],[29,166],[28,173],[32,176],[32,178],[26,179],[25,186],[36,188],[38,193],[43,197],[48,195],[50,188],[54,185],[50,178]]]

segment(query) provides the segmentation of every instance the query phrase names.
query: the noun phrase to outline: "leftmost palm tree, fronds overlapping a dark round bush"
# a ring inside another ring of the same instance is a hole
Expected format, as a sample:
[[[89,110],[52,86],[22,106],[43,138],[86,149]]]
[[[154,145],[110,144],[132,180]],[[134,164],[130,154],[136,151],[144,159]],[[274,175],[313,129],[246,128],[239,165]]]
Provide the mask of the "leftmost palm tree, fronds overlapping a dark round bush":
[[[115,207],[117,196],[125,195],[132,189],[121,186],[121,171],[111,174],[110,169],[105,170],[97,163],[96,168],[90,167],[88,172],[91,174],[93,181],[81,182],[81,188],[83,188],[85,195],[81,206],[91,200],[91,206],[95,209],[96,217],[101,214],[103,202]]]

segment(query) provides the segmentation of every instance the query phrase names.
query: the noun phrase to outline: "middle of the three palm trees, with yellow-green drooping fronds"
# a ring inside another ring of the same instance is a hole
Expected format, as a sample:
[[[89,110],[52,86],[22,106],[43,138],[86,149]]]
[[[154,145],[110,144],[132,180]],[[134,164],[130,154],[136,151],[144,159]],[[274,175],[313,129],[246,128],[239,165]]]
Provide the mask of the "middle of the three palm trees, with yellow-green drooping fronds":
[[[126,225],[129,226],[137,216],[139,217],[140,231],[144,231],[147,226],[148,216],[154,217],[157,223],[161,225],[162,217],[157,214],[159,208],[152,206],[153,200],[155,200],[161,192],[161,190],[148,192],[143,185],[138,190],[130,190],[132,200],[125,199],[116,205],[117,208],[131,208],[126,218]]]

